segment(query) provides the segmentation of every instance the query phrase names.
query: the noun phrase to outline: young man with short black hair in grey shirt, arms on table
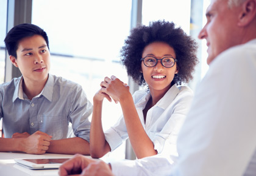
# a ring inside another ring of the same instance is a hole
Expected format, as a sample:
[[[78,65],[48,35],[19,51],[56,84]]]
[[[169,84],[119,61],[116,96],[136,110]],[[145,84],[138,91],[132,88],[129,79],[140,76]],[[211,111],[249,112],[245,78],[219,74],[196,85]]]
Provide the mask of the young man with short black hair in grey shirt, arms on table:
[[[92,105],[81,86],[49,74],[46,32],[37,25],[20,24],[4,41],[10,61],[22,76],[0,85],[5,135],[0,138],[0,151],[90,154]],[[76,137],[67,138],[69,123]]]

